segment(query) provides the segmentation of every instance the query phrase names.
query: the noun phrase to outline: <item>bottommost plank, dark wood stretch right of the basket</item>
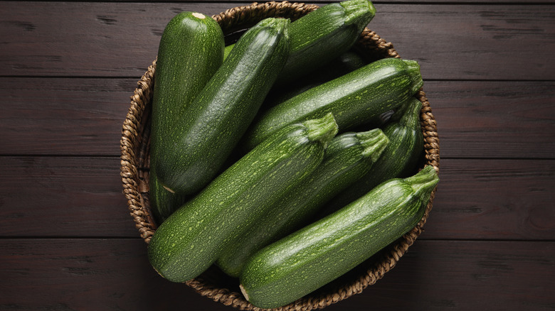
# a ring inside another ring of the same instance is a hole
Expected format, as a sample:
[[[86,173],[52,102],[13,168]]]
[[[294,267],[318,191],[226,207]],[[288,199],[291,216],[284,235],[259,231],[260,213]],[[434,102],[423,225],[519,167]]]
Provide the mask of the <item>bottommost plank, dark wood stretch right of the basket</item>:
[[[553,310],[554,255],[554,242],[416,241],[384,278],[329,310]]]

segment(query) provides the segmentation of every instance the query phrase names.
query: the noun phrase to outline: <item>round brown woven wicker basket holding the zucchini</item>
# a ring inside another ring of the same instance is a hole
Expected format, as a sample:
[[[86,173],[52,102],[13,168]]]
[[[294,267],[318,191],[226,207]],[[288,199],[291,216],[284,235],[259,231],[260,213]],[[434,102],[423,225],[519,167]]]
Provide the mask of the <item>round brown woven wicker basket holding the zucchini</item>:
[[[317,9],[312,4],[299,4],[283,2],[267,2],[264,4],[253,3],[248,6],[238,6],[233,9],[212,16],[227,35],[241,29],[253,26],[258,21],[267,17],[285,17],[291,21]],[[233,36],[233,35],[230,35]],[[363,51],[370,59],[399,58],[391,43],[380,38],[373,31],[364,29],[356,47]],[[127,205],[132,215],[139,234],[147,243],[156,230],[152,215],[149,210],[148,180],[149,180],[149,133],[152,89],[154,86],[154,70],[156,60],[148,67],[141,80],[137,82],[137,89],[131,97],[131,106],[123,124],[121,140],[121,175]],[[421,110],[421,127],[424,134],[424,154],[421,168],[424,165],[433,165],[439,170],[439,140],[435,119],[431,113],[430,103],[421,89],[416,97],[423,103]],[[276,310],[312,310],[330,305],[334,302],[349,298],[351,295],[361,293],[368,285],[376,283],[384,273],[391,270],[396,262],[413,244],[421,234],[425,224],[435,190],[432,192],[430,202],[421,221],[411,231],[389,245],[375,256],[369,258],[352,271],[316,290],[314,293],[292,302],[290,305]],[[260,310],[251,305],[240,294],[238,280],[233,279],[211,267],[198,278],[186,282],[198,293],[224,305],[231,305],[240,310]]]

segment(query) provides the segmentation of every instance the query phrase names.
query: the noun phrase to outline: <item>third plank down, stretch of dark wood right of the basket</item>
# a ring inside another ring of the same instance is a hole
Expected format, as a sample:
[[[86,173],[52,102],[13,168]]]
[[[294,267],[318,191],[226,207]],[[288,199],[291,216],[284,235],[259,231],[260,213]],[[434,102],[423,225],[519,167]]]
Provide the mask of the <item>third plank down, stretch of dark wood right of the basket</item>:
[[[441,160],[423,239],[554,240],[555,160]]]

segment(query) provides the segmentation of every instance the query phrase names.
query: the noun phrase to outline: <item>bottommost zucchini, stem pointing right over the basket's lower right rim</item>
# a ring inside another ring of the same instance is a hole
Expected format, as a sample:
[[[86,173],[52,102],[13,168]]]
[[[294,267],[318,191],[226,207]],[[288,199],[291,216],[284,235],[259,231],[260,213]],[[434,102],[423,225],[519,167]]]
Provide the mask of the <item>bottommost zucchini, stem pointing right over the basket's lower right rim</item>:
[[[389,180],[258,251],[241,273],[245,298],[256,307],[281,307],[347,273],[410,231],[437,183],[432,166]]]

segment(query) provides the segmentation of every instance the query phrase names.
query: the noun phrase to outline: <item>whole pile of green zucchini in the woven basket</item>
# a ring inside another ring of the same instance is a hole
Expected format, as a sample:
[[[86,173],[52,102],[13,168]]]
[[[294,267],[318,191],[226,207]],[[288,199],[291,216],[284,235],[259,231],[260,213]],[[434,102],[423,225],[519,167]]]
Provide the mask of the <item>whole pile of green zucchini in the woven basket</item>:
[[[177,14],[159,45],[149,261],[185,282],[216,264],[253,305],[280,307],[347,273],[412,229],[438,183],[423,153],[418,63],[352,48],[367,0],[238,41]]]

